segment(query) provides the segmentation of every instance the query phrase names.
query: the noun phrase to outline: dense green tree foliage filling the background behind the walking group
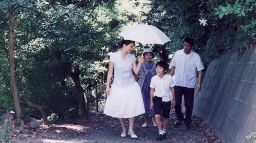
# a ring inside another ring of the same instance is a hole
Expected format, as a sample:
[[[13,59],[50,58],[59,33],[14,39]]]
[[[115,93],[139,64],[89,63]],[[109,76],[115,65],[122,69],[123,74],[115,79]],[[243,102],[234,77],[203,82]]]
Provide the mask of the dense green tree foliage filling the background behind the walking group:
[[[16,21],[24,19],[15,30],[20,100],[25,103],[26,95],[61,119],[76,116],[80,91],[91,91],[105,82],[109,56],[120,48],[118,33],[126,26],[148,23],[169,36],[172,41],[165,45],[146,45],[157,53],[155,61],[170,62],[174,52],[183,48],[185,37],[195,39],[193,50],[205,66],[255,41],[254,0],[82,2],[0,2],[0,109],[14,109],[7,61],[9,4]],[[199,19],[206,19],[208,25],[200,25]],[[136,43],[136,57],[142,46]],[[24,117],[40,115],[27,104],[22,104],[22,111]]]

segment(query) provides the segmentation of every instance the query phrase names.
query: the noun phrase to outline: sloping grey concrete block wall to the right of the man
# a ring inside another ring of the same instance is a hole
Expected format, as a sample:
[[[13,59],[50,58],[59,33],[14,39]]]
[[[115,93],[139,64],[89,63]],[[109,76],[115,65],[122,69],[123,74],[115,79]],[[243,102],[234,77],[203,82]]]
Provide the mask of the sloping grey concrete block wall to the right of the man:
[[[193,114],[214,127],[223,142],[256,142],[256,46],[242,56],[227,53],[212,61],[196,92]]]

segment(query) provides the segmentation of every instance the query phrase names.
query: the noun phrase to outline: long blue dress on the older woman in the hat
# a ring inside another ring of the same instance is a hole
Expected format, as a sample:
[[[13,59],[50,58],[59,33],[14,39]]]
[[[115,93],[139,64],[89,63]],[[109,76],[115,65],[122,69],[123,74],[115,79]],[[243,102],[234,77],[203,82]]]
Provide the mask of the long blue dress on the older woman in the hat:
[[[147,70],[151,70],[153,68],[153,65],[155,63],[152,62],[151,65],[146,65],[145,62],[143,62],[144,67],[146,67]],[[143,70],[143,69],[141,69]],[[150,87],[150,82],[151,82],[151,78],[154,75],[152,75],[152,73],[150,71],[148,71],[146,73],[145,79],[144,79],[144,83],[141,89],[141,94],[142,94],[142,99],[143,99],[143,103],[144,103],[144,107],[145,107],[145,113],[144,115],[154,115],[154,109],[150,109],[150,92],[149,92],[149,87]]]

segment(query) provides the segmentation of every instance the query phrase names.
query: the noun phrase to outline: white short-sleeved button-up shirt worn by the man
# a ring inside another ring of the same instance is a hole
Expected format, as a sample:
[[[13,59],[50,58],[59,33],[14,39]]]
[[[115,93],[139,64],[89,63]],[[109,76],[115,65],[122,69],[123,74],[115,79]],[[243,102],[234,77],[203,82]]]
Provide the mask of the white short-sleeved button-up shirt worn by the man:
[[[175,66],[175,85],[187,88],[196,87],[197,71],[204,69],[198,53],[191,50],[189,54],[185,54],[183,49],[178,50],[174,54],[172,65]]]

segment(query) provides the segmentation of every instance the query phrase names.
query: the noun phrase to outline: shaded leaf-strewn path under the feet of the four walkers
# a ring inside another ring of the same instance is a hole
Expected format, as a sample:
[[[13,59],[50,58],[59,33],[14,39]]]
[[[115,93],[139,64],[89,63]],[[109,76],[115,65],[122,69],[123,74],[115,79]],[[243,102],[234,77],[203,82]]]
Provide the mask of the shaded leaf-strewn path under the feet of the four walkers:
[[[92,112],[87,117],[65,121],[65,123],[41,125],[38,128],[27,127],[24,132],[12,134],[8,142],[221,142],[214,130],[201,118],[193,116],[191,129],[184,124],[174,128],[175,112],[172,109],[165,140],[155,140],[157,127],[152,122],[142,128],[142,116],[136,117],[134,132],[139,138],[121,137],[121,126],[118,119]],[[151,120],[150,120],[151,121]],[[126,127],[129,121],[125,122]],[[10,129],[9,129],[10,130]],[[11,131],[9,131],[11,132]]]

